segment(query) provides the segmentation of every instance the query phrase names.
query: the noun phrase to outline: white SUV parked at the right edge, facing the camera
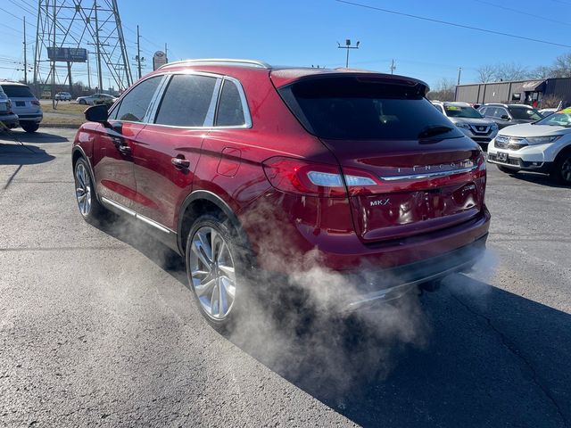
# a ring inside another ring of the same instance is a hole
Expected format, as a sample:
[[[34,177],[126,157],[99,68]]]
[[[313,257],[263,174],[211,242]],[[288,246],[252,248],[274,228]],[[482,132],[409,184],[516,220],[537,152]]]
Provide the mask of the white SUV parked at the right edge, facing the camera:
[[[571,185],[571,107],[501,129],[488,147],[488,161],[509,174],[522,169],[543,172]]]

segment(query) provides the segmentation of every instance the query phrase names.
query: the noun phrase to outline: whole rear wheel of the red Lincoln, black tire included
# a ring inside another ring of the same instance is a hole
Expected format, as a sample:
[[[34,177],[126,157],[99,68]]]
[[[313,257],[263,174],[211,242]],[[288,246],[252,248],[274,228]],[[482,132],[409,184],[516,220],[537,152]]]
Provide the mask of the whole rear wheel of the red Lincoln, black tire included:
[[[186,240],[186,276],[196,306],[220,332],[228,332],[247,300],[248,257],[236,230],[221,214],[203,214]]]

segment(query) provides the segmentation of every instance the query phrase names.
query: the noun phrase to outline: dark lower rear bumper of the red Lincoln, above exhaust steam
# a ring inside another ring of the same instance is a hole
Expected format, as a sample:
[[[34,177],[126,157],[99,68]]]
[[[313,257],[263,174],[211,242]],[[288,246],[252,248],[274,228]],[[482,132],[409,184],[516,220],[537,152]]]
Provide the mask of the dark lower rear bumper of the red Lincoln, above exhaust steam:
[[[393,300],[419,284],[456,272],[467,272],[482,258],[488,235],[457,250],[397,268],[362,270],[345,275],[353,284],[352,293],[343,296],[342,308],[352,310],[378,300]],[[356,284],[356,285],[355,285]]]

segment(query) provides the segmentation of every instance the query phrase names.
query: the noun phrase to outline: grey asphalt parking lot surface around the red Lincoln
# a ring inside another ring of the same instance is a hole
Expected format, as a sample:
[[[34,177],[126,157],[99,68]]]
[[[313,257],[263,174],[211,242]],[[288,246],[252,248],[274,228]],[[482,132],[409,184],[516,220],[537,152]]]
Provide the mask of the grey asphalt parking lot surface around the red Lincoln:
[[[571,188],[488,165],[488,254],[406,334],[225,337],[170,251],[79,216],[74,134],[0,135],[0,425],[571,425]]]

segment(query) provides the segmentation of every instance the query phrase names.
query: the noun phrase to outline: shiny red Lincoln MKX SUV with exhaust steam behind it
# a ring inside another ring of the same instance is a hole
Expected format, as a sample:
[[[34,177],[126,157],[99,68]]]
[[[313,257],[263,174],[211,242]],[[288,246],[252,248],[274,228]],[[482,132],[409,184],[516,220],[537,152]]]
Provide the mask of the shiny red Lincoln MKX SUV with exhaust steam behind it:
[[[350,308],[393,298],[470,268],[490,222],[484,154],[427,90],[361,70],[167,64],[109,111],[87,109],[72,149],[79,210],[148,225],[185,257],[215,326],[232,323],[252,271],[308,259],[375,274],[343,295]]]

